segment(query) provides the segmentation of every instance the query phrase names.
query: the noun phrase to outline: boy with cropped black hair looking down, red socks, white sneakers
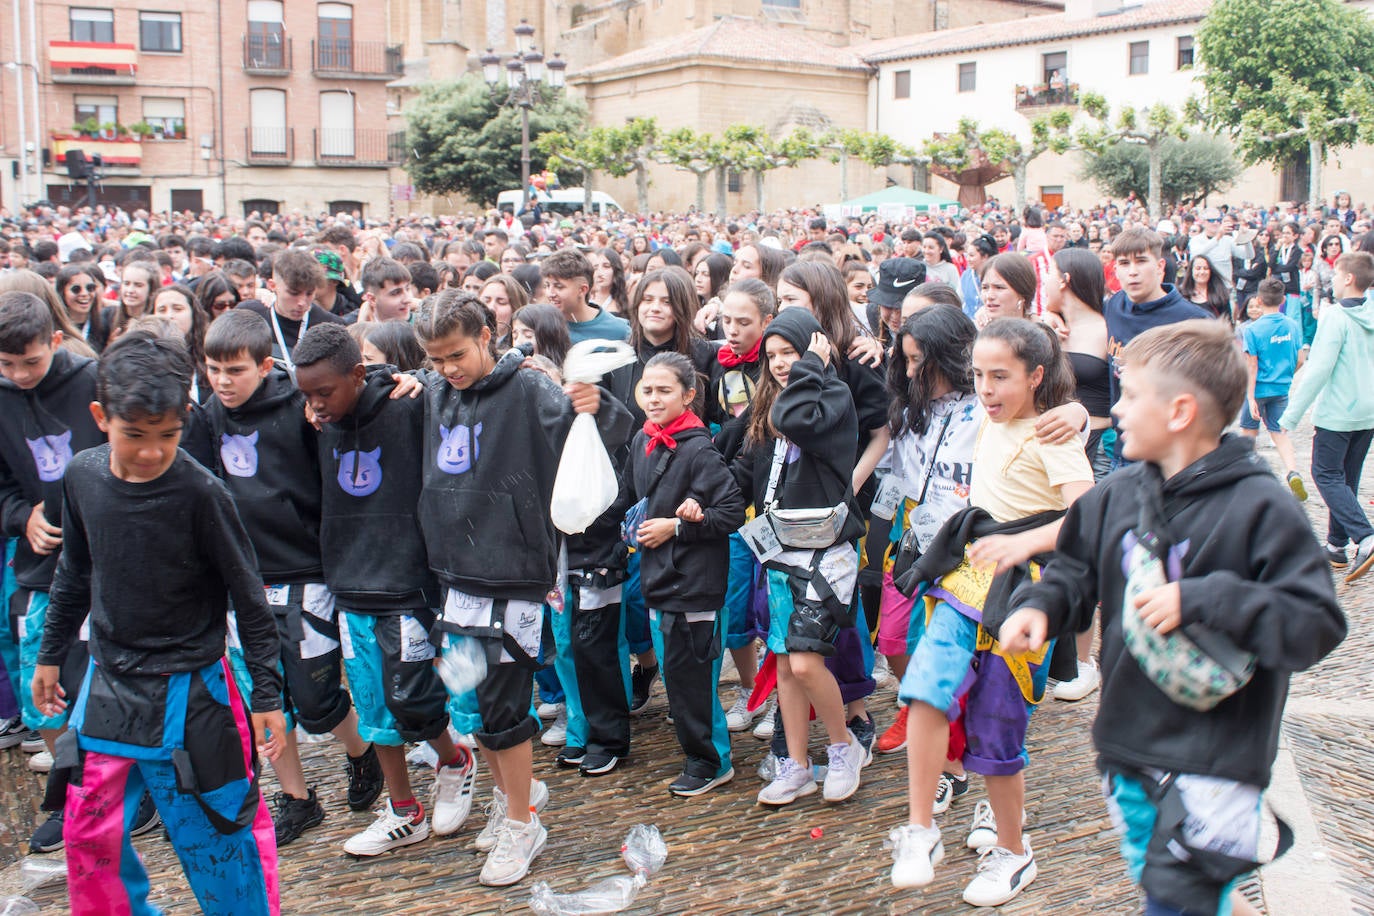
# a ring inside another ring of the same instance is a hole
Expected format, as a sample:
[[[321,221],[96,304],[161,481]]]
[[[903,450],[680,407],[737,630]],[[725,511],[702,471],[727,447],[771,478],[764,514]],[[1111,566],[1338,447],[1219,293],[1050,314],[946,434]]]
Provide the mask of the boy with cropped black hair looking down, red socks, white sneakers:
[[[341,611],[359,732],[372,743],[392,795],[381,817],[344,849],[379,856],[430,835],[411,791],[405,742],[429,742],[438,754],[433,832],[458,831],[477,784],[473,755],[449,737],[447,694],[427,639],[438,582],[415,515],[425,404],[396,400],[390,367],[368,372],[342,325],[311,328],[294,356],[297,385],[322,424],[324,581]]]

